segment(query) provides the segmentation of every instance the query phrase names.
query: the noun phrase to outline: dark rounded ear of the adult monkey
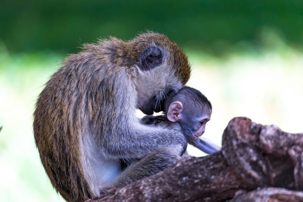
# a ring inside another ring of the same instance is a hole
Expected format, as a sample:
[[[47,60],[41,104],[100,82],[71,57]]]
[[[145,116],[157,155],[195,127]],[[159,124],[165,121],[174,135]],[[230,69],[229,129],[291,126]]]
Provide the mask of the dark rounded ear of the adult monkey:
[[[163,49],[156,45],[145,48],[139,56],[139,68],[142,71],[151,70],[163,62]]]

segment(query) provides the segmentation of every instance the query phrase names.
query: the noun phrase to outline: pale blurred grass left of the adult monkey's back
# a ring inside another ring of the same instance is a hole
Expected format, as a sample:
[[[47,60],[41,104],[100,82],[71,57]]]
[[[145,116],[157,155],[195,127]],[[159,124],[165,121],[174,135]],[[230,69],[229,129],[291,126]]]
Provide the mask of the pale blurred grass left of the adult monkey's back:
[[[7,202],[60,201],[34,145],[32,113],[59,56],[10,56],[0,46],[0,196]]]

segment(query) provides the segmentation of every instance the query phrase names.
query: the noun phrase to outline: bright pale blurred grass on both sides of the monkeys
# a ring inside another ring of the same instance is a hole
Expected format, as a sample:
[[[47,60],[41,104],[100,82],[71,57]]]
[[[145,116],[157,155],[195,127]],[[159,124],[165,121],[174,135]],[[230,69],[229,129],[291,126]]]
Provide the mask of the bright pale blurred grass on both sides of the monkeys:
[[[184,47],[193,67],[188,85],[204,93],[213,106],[204,136],[218,145],[228,121],[236,116],[275,124],[287,132],[303,132],[303,53],[288,47],[272,31],[263,35],[266,48],[238,51],[239,47],[230,47],[235,51],[220,58]],[[3,201],[62,201],[40,163],[32,113],[38,94],[64,57],[52,52],[10,55],[4,45],[0,46]],[[192,147],[189,153],[204,155]]]

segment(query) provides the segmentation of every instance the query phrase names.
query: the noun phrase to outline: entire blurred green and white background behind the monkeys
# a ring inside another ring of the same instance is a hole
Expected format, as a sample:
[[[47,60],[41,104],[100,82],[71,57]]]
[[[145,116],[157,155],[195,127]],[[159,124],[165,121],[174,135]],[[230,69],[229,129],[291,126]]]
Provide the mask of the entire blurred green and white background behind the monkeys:
[[[32,113],[45,82],[81,44],[166,34],[212,102],[205,137],[247,116],[303,132],[302,0],[4,0],[0,4],[0,199],[63,201],[40,163]],[[192,147],[191,155],[204,155]]]

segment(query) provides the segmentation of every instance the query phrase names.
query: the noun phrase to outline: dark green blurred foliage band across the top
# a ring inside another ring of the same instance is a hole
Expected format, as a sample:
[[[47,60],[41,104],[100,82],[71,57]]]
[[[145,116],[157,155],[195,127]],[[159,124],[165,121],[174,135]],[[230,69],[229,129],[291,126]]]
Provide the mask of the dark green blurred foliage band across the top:
[[[127,40],[151,30],[215,54],[239,43],[260,47],[263,28],[302,47],[303,0],[5,0],[0,6],[0,40],[11,52],[77,52],[100,37]]]

